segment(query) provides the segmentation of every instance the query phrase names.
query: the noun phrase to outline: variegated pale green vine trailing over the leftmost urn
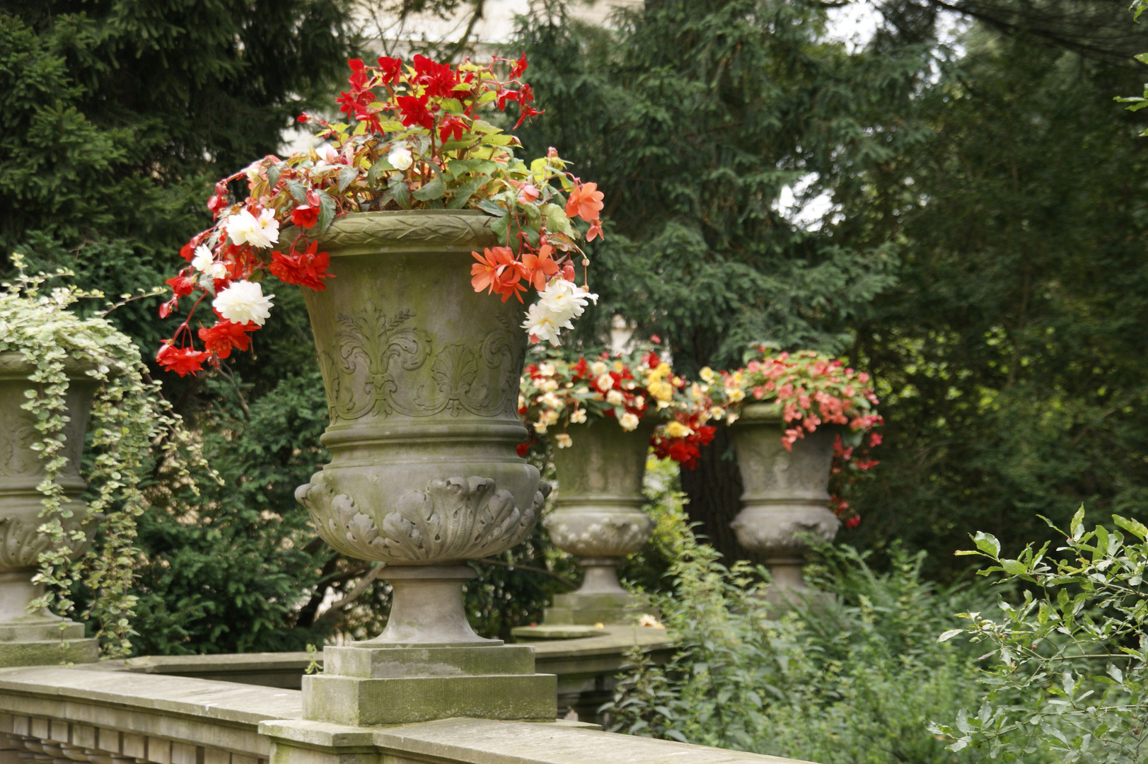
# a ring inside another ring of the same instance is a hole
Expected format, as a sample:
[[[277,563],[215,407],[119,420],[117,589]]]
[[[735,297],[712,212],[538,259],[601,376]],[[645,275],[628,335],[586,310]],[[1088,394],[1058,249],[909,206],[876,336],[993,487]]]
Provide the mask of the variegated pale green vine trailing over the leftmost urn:
[[[160,384],[148,376],[132,340],[106,316],[129,300],[153,293],[122,295],[123,302],[82,318],[71,309],[79,300],[102,299],[100,292],[76,286],[48,286],[72,276],[71,271],[29,276],[23,258],[11,256],[16,278],[0,284],[0,352],[17,352],[34,368],[29,379],[36,385],[22,408],[36,418],[39,440],[33,448],[46,470],[37,486],[44,494],[39,531],[52,540],[40,554],[40,570],[33,580],[47,585],[46,594],[33,601],[30,611],[52,608],[60,615],[94,620],[101,651],[123,657],[131,650],[131,619],[135,605],[132,564],[137,554],[135,519],[147,501],[140,489],[141,469],[162,460],[176,479],[188,478],[188,464],[202,463],[197,443],[184,429],[179,415],[160,393]],[[90,432],[94,465],[84,477],[94,499],[93,517],[99,518],[96,542],[79,560],[71,561],[71,542],[82,542],[87,531],[65,530],[72,516],[68,497],[57,481],[68,464],[64,427],[69,386],[64,363],[86,362],[86,373],[98,384],[92,404]],[[188,480],[189,485],[191,484]],[[71,589],[87,587],[91,602],[76,612]]]

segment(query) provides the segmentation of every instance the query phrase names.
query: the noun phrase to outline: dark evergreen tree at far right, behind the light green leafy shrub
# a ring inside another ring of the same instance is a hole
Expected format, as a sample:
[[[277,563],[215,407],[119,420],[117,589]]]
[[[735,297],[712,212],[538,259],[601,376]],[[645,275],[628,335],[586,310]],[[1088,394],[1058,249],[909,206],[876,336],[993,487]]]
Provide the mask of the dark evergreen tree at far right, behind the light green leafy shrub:
[[[1148,144],[1112,102],[1142,71],[984,26],[963,43],[899,170],[899,285],[853,352],[887,422],[856,540],[906,539],[945,576],[976,530],[1011,556],[1052,538],[1038,514],[1148,516]]]

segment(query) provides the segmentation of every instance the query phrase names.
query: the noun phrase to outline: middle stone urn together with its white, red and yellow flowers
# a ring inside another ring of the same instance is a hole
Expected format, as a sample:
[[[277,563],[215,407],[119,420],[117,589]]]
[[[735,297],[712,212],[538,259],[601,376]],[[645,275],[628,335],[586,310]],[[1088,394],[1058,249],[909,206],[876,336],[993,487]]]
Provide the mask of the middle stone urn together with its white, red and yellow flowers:
[[[588,361],[552,350],[522,377],[520,412],[552,446],[558,488],[542,524],[582,565],[582,585],[554,596],[545,625],[634,625],[647,601],[627,592],[618,568],[650,539],[643,506],[656,431],[688,432],[669,415],[681,398],[669,364],[645,350]],[[657,437],[656,437],[657,438]]]

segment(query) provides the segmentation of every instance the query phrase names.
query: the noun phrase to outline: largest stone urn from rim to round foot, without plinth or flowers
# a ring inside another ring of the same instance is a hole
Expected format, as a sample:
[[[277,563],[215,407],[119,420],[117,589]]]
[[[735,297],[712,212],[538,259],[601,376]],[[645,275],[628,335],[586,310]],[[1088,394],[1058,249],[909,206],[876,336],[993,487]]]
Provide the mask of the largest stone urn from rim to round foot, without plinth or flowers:
[[[326,290],[303,290],[332,460],[295,495],[334,549],[386,563],[391,617],[373,645],[487,641],[463,612],[464,563],[521,542],[550,492],[515,450],[522,306],[465,277],[471,252],[495,241],[492,219],[346,215],[319,239]]]

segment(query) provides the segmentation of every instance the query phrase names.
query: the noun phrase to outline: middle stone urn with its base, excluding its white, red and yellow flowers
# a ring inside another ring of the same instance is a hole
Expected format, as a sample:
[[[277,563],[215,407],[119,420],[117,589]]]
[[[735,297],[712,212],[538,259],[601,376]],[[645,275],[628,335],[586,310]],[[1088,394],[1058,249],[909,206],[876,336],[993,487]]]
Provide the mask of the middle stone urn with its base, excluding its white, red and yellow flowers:
[[[577,591],[554,595],[546,626],[633,625],[642,615],[645,601],[621,587],[618,566],[653,530],[642,511],[642,478],[654,425],[642,419],[630,432],[606,419],[571,425],[571,446],[553,449],[558,494],[542,524],[556,547],[580,557],[584,577]]]

